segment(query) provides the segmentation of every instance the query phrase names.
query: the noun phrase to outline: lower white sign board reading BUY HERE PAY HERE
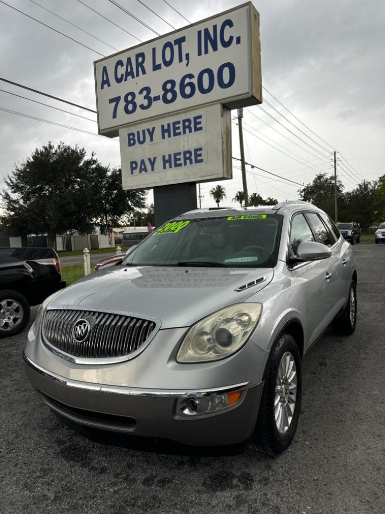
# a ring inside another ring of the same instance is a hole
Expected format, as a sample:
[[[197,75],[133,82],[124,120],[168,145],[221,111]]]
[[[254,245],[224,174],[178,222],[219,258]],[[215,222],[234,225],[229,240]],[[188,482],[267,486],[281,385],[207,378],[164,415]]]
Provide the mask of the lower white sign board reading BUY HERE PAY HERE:
[[[232,178],[230,126],[215,104],[121,128],[123,189]]]

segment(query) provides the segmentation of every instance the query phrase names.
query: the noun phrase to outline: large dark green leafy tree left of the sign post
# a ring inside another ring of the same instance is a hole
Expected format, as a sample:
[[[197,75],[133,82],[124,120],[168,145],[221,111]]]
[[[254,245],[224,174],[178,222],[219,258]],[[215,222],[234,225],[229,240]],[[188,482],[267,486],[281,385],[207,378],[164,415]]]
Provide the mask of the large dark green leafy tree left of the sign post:
[[[144,207],[144,193],[122,191],[119,172],[63,142],[34,150],[5,183],[0,224],[16,235],[47,234],[52,246],[56,234],[92,233],[99,223],[103,230],[133,205]]]

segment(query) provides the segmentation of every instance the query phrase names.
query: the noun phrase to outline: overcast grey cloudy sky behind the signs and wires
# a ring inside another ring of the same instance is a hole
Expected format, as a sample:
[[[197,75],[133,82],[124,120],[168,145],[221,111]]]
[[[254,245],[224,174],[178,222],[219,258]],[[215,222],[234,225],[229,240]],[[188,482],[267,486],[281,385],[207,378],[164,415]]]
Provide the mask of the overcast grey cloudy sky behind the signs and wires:
[[[108,0],[82,1],[83,4],[79,0],[7,0],[6,3],[95,51],[0,2],[0,77],[94,109],[93,61],[99,59],[100,54],[108,55],[115,49],[136,45],[138,41],[125,30],[143,41],[156,34]],[[158,32],[172,30],[138,0],[120,0],[120,3]],[[187,23],[163,0],[144,0],[143,3],[176,28]],[[239,3],[233,0],[169,0],[169,4],[190,22]],[[244,113],[244,128],[248,131],[245,132],[246,160],[281,177],[307,183],[317,171],[330,170],[328,155],[335,149],[342,164],[338,174],[347,190],[363,178],[373,180],[384,174],[385,3],[382,0],[254,0],[254,5],[260,13],[262,83],[266,88],[266,103],[262,108],[254,106]],[[15,162],[22,161],[36,146],[46,144],[48,140],[79,144],[88,153],[94,151],[104,164],[120,165],[118,140],[96,135],[97,124],[92,121],[96,119],[94,114],[2,81],[0,88],[0,108],[95,134],[0,111],[0,187],[4,186],[4,176],[12,171]],[[3,90],[90,119],[66,114]],[[234,125],[233,155],[239,157],[238,127]],[[342,156],[348,162],[342,160]],[[250,168],[248,170],[249,193],[258,191],[263,197],[272,196],[278,200],[297,197],[298,186],[264,172],[254,170],[253,174]],[[221,182],[227,192],[227,203],[242,189],[238,168],[234,168],[233,177]],[[209,189],[216,183],[202,184],[202,206],[213,205]],[[148,201],[151,199],[149,193]]]

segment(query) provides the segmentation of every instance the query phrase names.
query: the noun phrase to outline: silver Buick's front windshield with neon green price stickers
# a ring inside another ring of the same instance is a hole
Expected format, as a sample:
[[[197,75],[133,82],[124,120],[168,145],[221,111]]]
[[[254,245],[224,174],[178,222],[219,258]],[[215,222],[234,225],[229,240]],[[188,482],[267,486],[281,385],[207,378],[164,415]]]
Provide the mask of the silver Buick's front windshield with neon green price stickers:
[[[274,267],[282,215],[206,217],[169,222],[123,261],[137,266]]]

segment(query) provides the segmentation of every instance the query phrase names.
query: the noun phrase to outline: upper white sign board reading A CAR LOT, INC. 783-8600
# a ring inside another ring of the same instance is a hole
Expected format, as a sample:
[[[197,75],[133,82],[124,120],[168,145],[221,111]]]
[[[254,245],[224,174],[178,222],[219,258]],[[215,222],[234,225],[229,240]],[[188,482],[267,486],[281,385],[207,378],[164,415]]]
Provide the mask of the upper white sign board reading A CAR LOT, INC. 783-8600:
[[[251,2],[94,63],[99,133],[210,103],[262,101],[259,14]]]

